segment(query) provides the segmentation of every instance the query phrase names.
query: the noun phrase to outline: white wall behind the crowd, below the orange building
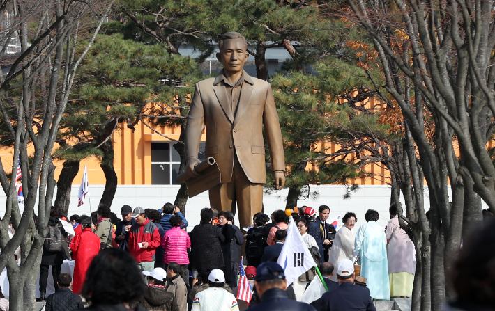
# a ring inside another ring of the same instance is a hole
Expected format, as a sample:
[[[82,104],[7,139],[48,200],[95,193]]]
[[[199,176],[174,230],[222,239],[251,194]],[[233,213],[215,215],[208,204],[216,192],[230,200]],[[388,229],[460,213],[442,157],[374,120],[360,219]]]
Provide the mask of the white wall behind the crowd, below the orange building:
[[[77,207],[78,185],[73,185],[68,216],[73,214],[90,214],[90,207],[95,211],[100,202],[104,186],[89,186],[89,199],[81,207]],[[299,200],[298,206],[307,205],[313,207],[318,212],[320,205],[330,207],[330,218],[346,212],[354,212],[358,216],[356,228],[365,222],[365,212],[367,209],[376,209],[380,214],[379,224],[385,226],[388,222],[388,207],[390,205],[389,186],[359,186],[358,190],[351,193],[351,198],[344,200],[346,187],[340,185],[311,186],[312,196],[307,200]],[[140,206],[146,208],[160,209],[167,202],[174,202],[178,186],[119,186],[114,201],[112,212],[120,214],[122,205],[130,205],[132,208]],[[287,189],[276,191],[270,195],[264,195],[265,214],[270,215],[275,209],[284,209],[287,198]],[[55,196],[54,196],[55,197]],[[0,194],[0,202],[5,200],[5,195]],[[5,202],[5,201],[3,201]],[[90,205],[91,202],[91,205]],[[199,212],[202,208],[209,207],[208,192],[201,193],[195,198],[190,198],[185,207],[185,214],[190,223],[188,231],[199,223]],[[427,200],[427,190],[425,190],[425,209],[429,209]],[[0,215],[5,211],[5,204],[0,203]],[[37,211],[37,207],[35,207]],[[238,223],[238,221],[236,221]],[[340,223],[342,225],[342,223]]]

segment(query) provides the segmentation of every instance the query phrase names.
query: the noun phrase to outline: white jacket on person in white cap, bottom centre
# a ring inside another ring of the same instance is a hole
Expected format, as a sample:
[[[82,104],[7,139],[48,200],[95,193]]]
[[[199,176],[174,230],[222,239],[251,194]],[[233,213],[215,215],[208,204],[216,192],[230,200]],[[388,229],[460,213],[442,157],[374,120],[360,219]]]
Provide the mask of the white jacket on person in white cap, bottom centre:
[[[196,294],[191,311],[239,310],[236,297],[219,287],[210,287]]]

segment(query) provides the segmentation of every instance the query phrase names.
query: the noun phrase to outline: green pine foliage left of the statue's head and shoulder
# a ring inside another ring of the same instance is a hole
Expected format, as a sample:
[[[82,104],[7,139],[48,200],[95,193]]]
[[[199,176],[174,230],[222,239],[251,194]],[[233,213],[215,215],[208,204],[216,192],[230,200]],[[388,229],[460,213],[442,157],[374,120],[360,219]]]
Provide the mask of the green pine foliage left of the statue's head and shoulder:
[[[99,35],[89,51],[73,101],[61,120],[56,157],[102,157],[100,147],[117,127],[135,126],[149,112],[148,102],[160,100],[173,106],[171,89],[197,75],[192,58],[170,55],[162,44],[145,45],[123,37]]]

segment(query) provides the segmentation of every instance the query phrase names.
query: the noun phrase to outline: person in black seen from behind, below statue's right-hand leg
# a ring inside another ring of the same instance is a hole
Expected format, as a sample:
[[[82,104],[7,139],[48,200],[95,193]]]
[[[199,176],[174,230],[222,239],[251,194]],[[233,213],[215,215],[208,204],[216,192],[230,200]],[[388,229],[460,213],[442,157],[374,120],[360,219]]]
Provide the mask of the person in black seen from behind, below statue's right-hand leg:
[[[250,228],[246,234],[245,253],[248,266],[257,267],[261,264],[264,249],[268,247],[266,244],[268,234],[265,231],[265,225],[270,218],[261,213],[255,214],[253,218],[255,226]]]

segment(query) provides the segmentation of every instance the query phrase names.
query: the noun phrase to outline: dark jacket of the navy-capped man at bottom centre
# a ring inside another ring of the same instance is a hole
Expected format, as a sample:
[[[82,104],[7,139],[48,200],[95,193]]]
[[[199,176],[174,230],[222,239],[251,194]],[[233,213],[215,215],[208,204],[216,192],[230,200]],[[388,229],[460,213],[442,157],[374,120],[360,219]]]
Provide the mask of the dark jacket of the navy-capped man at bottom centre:
[[[293,301],[287,292],[280,288],[271,288],[261,296],[261,303],[249,308],[250,311],[316,311],[312,305]]]

